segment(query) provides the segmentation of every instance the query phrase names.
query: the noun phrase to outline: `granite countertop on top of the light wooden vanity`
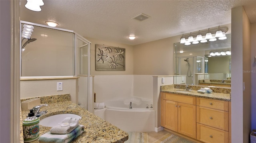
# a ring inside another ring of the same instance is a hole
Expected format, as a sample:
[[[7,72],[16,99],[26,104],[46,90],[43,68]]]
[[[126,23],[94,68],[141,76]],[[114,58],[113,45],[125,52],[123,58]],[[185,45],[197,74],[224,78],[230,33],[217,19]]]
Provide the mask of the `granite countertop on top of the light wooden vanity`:
[[[230,94],[227,94],[227,93],[212,92],[212,93],[204,94],[204,93],[198,93],[196,90],[187,91],[186,89],[174,88],[174,86],[169,86],[169,87],[166,86],[166,87],[167,88],[161,88],[161,92],[209,98],[209,99],[216,99],[216,100],[231,101],[231,96],[230,96]],[[225,88],[223,88],[223,89],[225,90]],[[189,93],[179,92],[179,91],[187,91]]]

